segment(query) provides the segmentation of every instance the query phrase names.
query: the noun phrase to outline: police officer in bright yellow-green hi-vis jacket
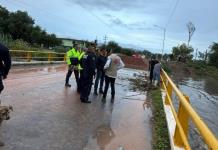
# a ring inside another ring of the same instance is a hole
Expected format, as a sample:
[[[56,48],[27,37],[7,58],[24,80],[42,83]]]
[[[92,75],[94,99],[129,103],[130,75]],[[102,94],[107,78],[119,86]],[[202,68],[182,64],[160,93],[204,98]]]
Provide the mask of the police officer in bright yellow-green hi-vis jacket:
[[[78,57],[79,57],[78,45],[74,44],[74,48],[70,49],[67,52],[68,72],[66,75],[66,82],[65,82],[66,87],[71,87],[71,85],[69,84],[69,79],[70,79],[72,72],[74,72],[76,83],[78,86],[78,81],[79,81],[79,71],[77,67]]]

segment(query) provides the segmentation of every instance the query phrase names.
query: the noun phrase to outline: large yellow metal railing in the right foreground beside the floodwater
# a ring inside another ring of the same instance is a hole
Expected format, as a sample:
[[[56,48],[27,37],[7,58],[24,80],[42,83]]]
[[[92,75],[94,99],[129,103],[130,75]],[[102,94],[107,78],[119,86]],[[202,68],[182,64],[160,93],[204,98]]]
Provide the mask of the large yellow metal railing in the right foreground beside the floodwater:
[[[196,128],[198,129],[200,136],[207,144],[208,148],[212,150],[217,150],[217,138],[207,127],[207,125],[204,123],[201,117],[192,108],[192,106],[189,103],[189,97],[183,95],[183,93],[176,87],[176,85],[173,83],[171,78],[167,75],[167,73],[164,70],[162,70],[161,73],[161,81],[162,88],[166,91],[165,105],[170,106],[176,122],[176,129],[173,137],[174,144],[178,147],[184,148],[185,150],[191,149],[188,141],[188,125],[189,119],[191,119],[194,126],[196,126]],[[179,100],[178,111],[176,111],[176,108],[172,102],[173,92]]]

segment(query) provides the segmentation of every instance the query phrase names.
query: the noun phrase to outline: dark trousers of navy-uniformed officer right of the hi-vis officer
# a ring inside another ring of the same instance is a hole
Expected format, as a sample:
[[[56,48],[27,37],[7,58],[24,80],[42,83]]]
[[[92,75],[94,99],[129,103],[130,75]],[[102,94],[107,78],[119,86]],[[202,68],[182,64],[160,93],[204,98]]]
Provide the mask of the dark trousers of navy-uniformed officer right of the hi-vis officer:
[[[92,81],[93,81],[93,76],[86,76],[83,75],[80,80],[80,90],[81,90],[81,95],[80,99],[82,101],[88,101],[89,100],[89,95],[92,89]]]

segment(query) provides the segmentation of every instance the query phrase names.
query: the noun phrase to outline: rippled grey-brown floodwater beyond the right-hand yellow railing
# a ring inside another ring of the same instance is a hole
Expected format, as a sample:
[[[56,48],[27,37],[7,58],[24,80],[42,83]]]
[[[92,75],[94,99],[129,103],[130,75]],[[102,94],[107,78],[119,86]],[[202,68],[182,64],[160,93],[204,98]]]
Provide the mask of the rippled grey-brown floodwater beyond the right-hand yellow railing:
[[[176,80],[176,83],[189,96],[194,110],[218,137],[218,81],[210,77],[184,77]],[[197,129],[191,125],[190,141],[193,149],[206,149],[197,134]]]

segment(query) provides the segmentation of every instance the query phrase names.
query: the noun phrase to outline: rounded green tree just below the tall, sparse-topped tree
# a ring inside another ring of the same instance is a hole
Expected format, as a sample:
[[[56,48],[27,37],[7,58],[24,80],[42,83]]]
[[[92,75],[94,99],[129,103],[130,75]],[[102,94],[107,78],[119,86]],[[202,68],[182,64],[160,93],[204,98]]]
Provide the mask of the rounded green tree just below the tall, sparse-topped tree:
[[[175,59],[177,59],[180,56],[190,60],[193,57],[193,55],[191,54],[193,51],[194,49],[191,46],[187,46],[185,43],[183,43],[182,45],[173,47],[172,54]]]

